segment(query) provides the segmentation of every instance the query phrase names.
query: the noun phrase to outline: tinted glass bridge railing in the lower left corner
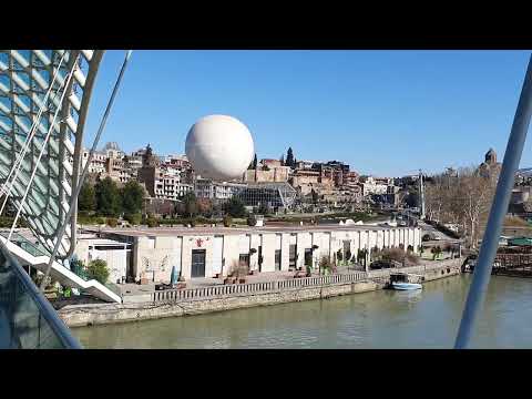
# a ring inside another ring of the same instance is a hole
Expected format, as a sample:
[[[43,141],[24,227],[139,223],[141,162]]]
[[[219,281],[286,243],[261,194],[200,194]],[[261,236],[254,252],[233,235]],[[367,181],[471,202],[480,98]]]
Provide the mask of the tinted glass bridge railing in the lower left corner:
[[[30,276],[3,246],[0,247],[0,348],[81,348]]]

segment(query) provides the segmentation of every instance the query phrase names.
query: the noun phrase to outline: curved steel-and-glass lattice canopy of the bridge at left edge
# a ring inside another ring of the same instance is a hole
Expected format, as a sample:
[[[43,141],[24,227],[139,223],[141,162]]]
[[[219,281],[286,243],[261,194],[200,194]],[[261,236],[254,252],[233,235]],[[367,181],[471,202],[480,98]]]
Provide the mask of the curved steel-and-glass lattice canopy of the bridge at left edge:
[[[75,208],[66,216],[76,206],[72,193],[102,57],[102,50],[0,50],[2,195],[48,253],[62,241],[58,260],[75,248]],[[65,234],[58,237],[63,224]]]

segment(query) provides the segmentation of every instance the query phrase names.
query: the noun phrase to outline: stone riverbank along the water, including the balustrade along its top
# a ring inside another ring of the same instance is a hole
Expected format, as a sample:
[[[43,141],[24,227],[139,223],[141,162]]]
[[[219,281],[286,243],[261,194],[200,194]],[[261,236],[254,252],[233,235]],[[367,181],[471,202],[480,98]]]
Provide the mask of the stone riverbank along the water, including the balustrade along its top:
[[[406,273],[421,275],[424,282],[456,276],[461,273],[462,259],[436,262],[431,265],[413,266],[401,269]],[[393,270],[392,270],[393,272]],[[167,317],[192,316],[224,310],[269,306],[293,301],[325,299],[350,294],[368,293],[382,289],[390,270],[376,270],[348,276],[328,276],[288,282],[272,282],[252,288],[228,288],[224,291],[208,291],[206,297],[157,297],[142,303],[72,305],[61,308],[58,314],[69,327],[105,325],[126,321],[160,319]],[[231,286],[226,286],[231,287]],[[233,286],[238,287],[238,286]],[[264,290],[258,290],[258,288]],[[246,291],[247,290],[247,291]]]

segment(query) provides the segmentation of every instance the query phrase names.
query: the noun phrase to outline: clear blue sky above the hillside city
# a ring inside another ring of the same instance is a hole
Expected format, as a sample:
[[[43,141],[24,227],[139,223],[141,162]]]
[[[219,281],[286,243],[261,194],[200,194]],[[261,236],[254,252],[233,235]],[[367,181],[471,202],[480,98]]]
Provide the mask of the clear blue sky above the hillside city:
[[[92,140],[124,52],[108,51],[85,131]],[[339,160],[364,174],[502,161],[526,51],[135,50],[101,141],[184,153],[188,129],[229,114],[257,156]],[[92,142],[92,141],[91,141]],[[521,165],[532,166],[528,140]]]

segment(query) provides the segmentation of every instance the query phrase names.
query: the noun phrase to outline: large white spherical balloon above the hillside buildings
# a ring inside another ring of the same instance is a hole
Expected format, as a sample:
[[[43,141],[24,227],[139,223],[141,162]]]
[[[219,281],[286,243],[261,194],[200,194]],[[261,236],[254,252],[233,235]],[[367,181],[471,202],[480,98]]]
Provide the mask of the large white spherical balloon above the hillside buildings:
[[[188,131],[185,152],[202,177],[228,181],[242,176],[255,150],[244,123],[233,116],[208,115]]]

